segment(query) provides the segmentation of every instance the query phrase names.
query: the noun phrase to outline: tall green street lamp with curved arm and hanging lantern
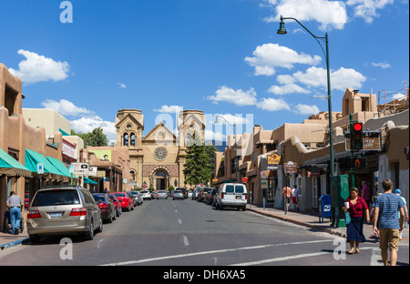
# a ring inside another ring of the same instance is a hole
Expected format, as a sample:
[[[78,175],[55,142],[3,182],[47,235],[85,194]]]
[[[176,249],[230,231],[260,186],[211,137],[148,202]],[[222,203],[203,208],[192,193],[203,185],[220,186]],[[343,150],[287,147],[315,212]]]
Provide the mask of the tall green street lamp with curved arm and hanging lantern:
[[[296,21],[299,25],[302,25],[297,19],[293,17],[282,17],[281,15],[281,23],[279,24],[278,34],[285,35],[287,33],[286,29],[284,28],[283,20],[293,20]],[[326,52],[323,51],[323,54],[326,56],[326,69],[327,69],[327,102],[329,107],[329,144],[330,144],[330,169],[331,169],[331,177],[334,177],[334,154],[333,154],[333,123],[332,123],[332,94],[331,94],[331,84],[330,84],[330,67],[329,67],[329,42],[327,33],[324,36],[316,36],[311,33],[304,25],[302,27],[311,34],[314,39],[317,41],[319,46],[321,46],[322,51],[323,47],[318,41],[318,39],[324,39],[326,43]]]

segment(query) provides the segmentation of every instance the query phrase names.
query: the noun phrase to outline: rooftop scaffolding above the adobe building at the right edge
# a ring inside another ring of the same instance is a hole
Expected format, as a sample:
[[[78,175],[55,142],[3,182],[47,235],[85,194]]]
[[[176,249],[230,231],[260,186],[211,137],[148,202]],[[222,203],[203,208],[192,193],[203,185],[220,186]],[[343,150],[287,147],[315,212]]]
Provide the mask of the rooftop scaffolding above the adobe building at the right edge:
[[[385,89],[378,92],[377,112],[379,116],[397,114],[408,109],[409,92],[408,80],[403,81],[405,87],[394,92],[387,92]]]

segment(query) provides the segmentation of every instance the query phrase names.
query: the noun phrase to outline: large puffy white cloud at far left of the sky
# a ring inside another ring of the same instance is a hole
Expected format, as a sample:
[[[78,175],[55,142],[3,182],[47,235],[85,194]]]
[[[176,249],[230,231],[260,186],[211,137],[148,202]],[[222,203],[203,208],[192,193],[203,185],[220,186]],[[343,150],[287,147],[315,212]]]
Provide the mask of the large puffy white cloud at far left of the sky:
[[[14,76],[21,77],[25,84],[35,84],[37,82],[60,81],[68,76],[70,66],[65,62],[56,62],[46,56],[39,56],[34,52],[20,49],[19,55],[25,56],[26,60],[18,64],[19,70],[9,68]]]

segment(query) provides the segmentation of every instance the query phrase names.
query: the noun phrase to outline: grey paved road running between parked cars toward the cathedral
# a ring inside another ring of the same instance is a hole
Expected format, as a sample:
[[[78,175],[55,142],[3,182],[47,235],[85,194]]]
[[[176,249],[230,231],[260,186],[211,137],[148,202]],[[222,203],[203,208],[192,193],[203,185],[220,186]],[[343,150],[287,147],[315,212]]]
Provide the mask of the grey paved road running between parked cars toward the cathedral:
[[[360,255],[339,255],[346,249],[344,239],[190,199],[146,200],[105,224],[91,241],[76,237],[71,245],[60,244],[60,239],[9,249],[0,253],[0,265],[381,265],[378,243],[362,244]],[[408,254],[399,253],[401,263],[408,265]]]

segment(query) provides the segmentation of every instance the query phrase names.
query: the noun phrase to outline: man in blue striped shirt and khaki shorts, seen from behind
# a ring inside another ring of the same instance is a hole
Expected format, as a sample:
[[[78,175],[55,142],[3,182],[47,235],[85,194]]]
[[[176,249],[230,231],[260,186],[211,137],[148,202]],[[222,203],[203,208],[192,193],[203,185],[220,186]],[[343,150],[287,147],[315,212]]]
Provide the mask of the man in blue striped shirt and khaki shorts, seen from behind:
[[[393,182],[386,178],[382,182],[384,194],[374,199],[374,234],[379,234],[380,249],[384,266],[388,265],[387,252],[390,249],[390,265],[397,262],[397,251],[400,240],[400,231],[405,222],[405,203],[402,198],[393,193]],[[397,218],[397,210],[400,211],[400,220]],[[379,228],[377,228],[379,219]]]

